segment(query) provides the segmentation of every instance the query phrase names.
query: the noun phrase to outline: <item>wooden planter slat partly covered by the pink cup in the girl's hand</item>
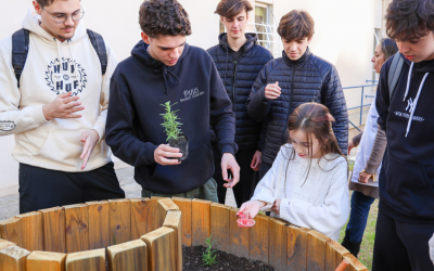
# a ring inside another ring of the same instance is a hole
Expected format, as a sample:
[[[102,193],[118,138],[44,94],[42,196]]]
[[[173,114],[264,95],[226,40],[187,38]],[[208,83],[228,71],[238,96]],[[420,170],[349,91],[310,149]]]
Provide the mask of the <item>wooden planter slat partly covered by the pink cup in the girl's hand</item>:
[[[239,208],[231,208],[229,214],[230,224],[230,253],[238,257],[248,258],[248,237],[251,228],[240,228],[237,223]]]

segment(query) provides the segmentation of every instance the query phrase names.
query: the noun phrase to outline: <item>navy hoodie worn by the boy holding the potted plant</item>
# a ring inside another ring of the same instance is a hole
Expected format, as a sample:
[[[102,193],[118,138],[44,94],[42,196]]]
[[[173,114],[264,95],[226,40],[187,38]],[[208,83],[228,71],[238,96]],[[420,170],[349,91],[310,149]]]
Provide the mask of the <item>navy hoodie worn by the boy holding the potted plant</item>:
[[[146,49],[140,41],[113,74],[106,142],[117,157],[136,167],[135,179],[145,190],[188,192],[214,173],[210,124],[221,154],[237,152],[231,102],[206,51],[186,44],[178,63],[168,67]],[[155,149],[167,144],[159,114],[168,101],[177,103],[174,109],[190,144],[188,158],[177,166],[162,166],[154,159]]]

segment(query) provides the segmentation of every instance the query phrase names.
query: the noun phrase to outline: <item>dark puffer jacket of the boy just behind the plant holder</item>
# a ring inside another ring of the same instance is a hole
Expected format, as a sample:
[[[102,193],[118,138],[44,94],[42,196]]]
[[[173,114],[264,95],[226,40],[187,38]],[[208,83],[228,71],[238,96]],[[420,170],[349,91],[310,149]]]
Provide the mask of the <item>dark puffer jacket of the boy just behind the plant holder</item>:
[[[207,51],[216,64],[217,70],[224,81],[226,91],[232,102],[235,113],[235,143],[240,150],[257,147],[260,134],[260,122],[253,120],[246,108],[246,101],[260,69],[272,60],[271,53],[257,44],[256,34],[246,34],[247,41],[240,48],[239,60],[233,59],[234,52],[229,47],[227,34],[220,34],[219,44]],[[212,142],[216,143],[213,128]],[[259,150],[259,149],[258,149]],[[260,151],[260,150],[259,150]]]

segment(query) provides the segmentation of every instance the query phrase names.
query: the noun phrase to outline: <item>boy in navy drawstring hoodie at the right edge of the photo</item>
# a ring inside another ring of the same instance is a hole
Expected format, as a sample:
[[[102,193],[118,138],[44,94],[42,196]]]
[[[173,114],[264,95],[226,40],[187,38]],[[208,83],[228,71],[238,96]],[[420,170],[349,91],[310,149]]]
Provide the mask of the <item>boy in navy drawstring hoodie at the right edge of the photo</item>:
[[[434,270],[434,2],[394,0],[387,35],[399,54],[382,67],[379,129],[387,149],[380,172],[373,271]]]

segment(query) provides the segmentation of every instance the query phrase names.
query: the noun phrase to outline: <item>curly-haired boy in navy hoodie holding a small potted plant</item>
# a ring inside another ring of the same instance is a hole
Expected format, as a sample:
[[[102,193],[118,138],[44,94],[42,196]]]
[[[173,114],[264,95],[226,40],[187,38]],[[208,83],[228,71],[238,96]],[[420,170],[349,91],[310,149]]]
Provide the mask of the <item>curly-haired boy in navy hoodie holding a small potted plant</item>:
[[[111,82],[108,145],[136,167],[142,196],[178,196],[217,202],[209,125],[215,127],[227,188],[237,184],[234,114],[213,60],[187,43],[189,16],[176,0],[146,0],[140,8],[142,40],[119,63]],[[162,104],[170,102],[189,140],[186,160],[167,145]],[[176,159],[174,159],[176,158]],[[216,170],[219,170],[216,169]],[[232,179],[228,177],[232,171]]]

